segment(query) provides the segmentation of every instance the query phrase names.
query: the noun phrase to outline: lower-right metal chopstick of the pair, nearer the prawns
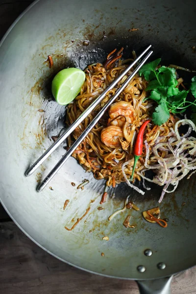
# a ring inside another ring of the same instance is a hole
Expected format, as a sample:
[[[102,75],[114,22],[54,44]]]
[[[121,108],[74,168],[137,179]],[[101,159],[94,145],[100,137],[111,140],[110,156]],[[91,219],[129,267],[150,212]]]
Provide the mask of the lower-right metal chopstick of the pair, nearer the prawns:
[[[43,180],[43,182],[37,187],[37,191],[41,192],[49,181],[53,178],[53,176],[61,169],[64,163],[68,160],[68,158],[72,155],[73,151],[82,143],[84,138],[88,135],[88,133],[92,130],[92,128],[98,123],[99,119],[106,111],[108,106],[110,106],[114,100],[119,96],[119,94],[123,91],[123,89],[128,85],[130,80],[134,77],[134,75],[139,71],[139,69],[143,66],[143,64],[147,61],[149,56],[152,54],[153,51],[150,51],[147,56],[143,59],[143,61],[138,65],[138,67],[129,75],[129,77],[125,80],[121,88],[117,90],[115,95],[103,106],[97,116],[93,119],[93,121],[87,126],[87,128],[83,131],[83,133],[77,138],[77,140],[73,143],[72,147],[66,152],[66,154],[61,158],[61,160],[56,164],[56,166],[49,172],[47,177]]]

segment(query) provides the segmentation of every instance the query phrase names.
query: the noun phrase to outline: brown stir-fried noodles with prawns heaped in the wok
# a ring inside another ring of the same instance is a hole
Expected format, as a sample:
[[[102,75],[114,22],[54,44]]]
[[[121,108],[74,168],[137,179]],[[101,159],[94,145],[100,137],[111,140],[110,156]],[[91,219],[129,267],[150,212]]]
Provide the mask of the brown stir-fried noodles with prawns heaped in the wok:
[[[68,105],[66,121],[68,125],[72,124],[92,101],[124,71],[127,63],[133,60],[122,61],[120,59],[121,52],[122,49],[117,53],[111,52],[104,65],[97,63],[89,65],[85,69],[86,80],[80,94]],[[74,130],[73,135],[68,139],[68,147],[80,136],[103,105],[121,87],[130,73],[128,72],[115,88],[108,91],[101,103]],[[131,177],[134,162],[134,138],[141,124],[150,118],[151,111],[155,107],[155,102],[152,100],[144,100],[147,97],[146,87],[147,81],[145,78],[136,74],[107,113],[73,152],[73,157],[78,160],[84,169],[93,172],[96,179],[106,179],[107,186],[115,187],[116,184],[125,181],[122,165],[127,161],[128,164],[124,172],[128,179]],[[168,135],[171,133],[170,128],[174,129],[176,121],[171,115],[168,122],[161,126],[148,123],[144,141],[147,141],[149,148],[154,145],[157,138],[161,137],[161,142],[167,142]],[[166,151],[160,150],[159,155],[164,158]],[[144,144],[142,156],[134,172],[134,179],[137,178],[139,181],[142,172],[146,170],[145,157],[146,147]]]

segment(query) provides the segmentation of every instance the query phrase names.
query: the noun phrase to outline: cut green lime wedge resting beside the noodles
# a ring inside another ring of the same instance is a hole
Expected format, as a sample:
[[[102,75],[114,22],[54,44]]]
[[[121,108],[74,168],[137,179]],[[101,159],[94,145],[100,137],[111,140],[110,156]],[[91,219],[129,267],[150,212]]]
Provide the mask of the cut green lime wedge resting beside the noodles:
[[[80,92],[85,80],[85,73],[69,68],[60,71],[52,80],[52,95],[60,105],[66,105]]]

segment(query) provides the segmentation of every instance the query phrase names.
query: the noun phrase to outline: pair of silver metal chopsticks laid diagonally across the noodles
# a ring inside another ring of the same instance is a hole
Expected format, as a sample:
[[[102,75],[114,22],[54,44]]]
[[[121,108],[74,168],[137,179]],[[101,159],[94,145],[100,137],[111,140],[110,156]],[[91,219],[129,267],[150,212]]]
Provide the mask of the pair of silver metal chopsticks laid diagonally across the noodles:
[[[49,155],[61,144],[63,141],[73,132],[73,130],[92,112],[92,110],[100,103],[100,101],[106,96],[107,92],[114,88],[114,86],[121,81],[123,76],[130,71],[130,69],[143,57],[143,55],[151,48],[151,45],[145,49],[142,54],[140,54],[124,71],[121,73],[103,92],[102,94],[96,98],[89,107],[78,117],[78,119],[72,123],[66,131],[46,150],[40,158],[25,172],[26,176],[31,175],[35,170],[49,157]],[[64,163],[68,160],[68,158],[72,155],[73,151],[82,143],[85,137],[89,134],[92,128],[98,123],[101,116],[107,110],[107,108],[115,101],[115,99],[119,96],[119,94],[124,90],[124,88],[128,85],[134,75],[139,71],[139,69],[144,65],[147,59],[152,54],[152,50],[147,54],[147,56],[140,62],[137,68],[128,76],[122,86],[117,90],[115,95],[103,106],[97,116],[93,119],[93,121],[87,126],[87,128],[83,131],[83,133],[78,137],[78,139],[73,143],[70,149],[65,153],[65,155],[61,158],[61,160],[55,165],[55,167],[49,172],[47,177],[43,180],[43,182],[37,187],[37,191],[41,192],[49,181],[53,178],[53,176],[61,169]]]

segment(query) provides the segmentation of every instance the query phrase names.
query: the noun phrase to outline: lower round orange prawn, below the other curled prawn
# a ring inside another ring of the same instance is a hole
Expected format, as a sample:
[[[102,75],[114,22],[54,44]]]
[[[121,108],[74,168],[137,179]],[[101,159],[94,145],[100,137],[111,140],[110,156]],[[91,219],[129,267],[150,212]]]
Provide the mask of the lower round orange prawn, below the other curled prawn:
[[[107,147],[121,146],[120,138],[123,138],[123,131],[119,126],[109,125],[101,131],[101,141]]]

